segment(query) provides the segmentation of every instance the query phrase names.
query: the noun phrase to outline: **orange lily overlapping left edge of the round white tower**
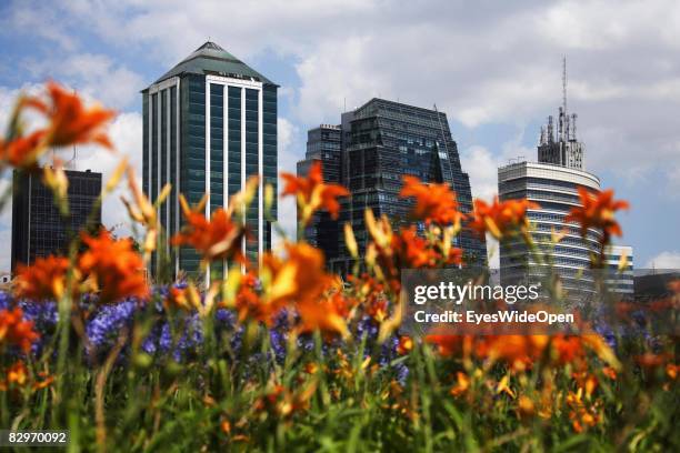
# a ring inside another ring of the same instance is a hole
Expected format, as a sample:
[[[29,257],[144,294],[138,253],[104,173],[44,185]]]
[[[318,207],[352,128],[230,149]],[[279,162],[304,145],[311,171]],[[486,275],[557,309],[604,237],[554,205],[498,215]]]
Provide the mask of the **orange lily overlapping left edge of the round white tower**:
[[[469,228],[477,231],[483,236],[489,232],[496,239],[513,233],[520,229],[526,233],[529,226],[527,219],[527,210],[539,209],[537,203],[529,200],[508,200],[498,201],[498,197],[493,199],[492,204],[487,204],[482,200],[474,200],[474,218],[469,223]]]

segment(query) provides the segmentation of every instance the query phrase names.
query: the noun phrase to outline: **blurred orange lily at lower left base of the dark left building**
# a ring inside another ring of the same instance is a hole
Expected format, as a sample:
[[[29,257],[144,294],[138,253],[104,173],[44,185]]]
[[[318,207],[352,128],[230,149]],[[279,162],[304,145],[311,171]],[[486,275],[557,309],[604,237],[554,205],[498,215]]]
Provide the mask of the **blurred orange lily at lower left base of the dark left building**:
[[[67,285],[69,260],[63,256],[37,258],[33,264],[17,266],[14,295],[17,298],[59,300]]]

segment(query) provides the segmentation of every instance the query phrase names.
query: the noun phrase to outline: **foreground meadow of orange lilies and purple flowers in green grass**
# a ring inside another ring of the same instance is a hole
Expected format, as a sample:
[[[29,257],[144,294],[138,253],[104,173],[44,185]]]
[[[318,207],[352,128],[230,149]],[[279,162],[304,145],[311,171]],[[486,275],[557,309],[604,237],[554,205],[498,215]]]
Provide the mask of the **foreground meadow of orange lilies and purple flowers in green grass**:
[[[43,125],[28,128],[28,112]],[[50,82],[17,100],[0,173],[41,174],[66,212],[59,150],[118,153],[113,117]],[[257,179],[210,218],[206,200],[182,199],[182,230],[168,238],[158,212],[170,187],[149,200],[121,159],[99,202],[127,185],[137,236],[73,232],[66,253],[20,266],[0,292],[0,429],[68,430],[73,452],[680,451],[679,342],[653,326],[614,338],[403,333],[402,270],[464,268],[461,228],[531,245],[531,203],[476,200],[464,214],[447,184],[406,178],[400,195],[424,232],[369,210],[366,251],[343,225],[357,264],[337,275],[302,236],[348,195],[321,170],[281,175],[298,238],[280,231],[252,262],[241,244]],[[277,194],[262,192],[271,218]],[[0,197],[4,208],[10,194]],[[580,197],[569,220],[602,231],[603,250],[628,203]],[[200,254],[199,275],[168,276],[180,248]],[[680,282],[671,289],[677,309]]]

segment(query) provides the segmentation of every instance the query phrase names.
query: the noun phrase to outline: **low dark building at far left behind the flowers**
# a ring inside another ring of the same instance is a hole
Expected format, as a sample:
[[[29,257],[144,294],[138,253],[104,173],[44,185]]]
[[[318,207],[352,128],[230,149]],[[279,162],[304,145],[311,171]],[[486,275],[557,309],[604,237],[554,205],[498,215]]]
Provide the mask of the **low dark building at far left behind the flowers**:
[[[69,217],[63,219],[54,204],[52,191],[41,181],[41,173],[14,170],[12,185],[12,256],[18,263],[31,264],[36,258],[67,254],[69,243],[88,225],[101,224],[101,173],[66,170],[69,181]],[[94,210],[94,212],[92,212]]]

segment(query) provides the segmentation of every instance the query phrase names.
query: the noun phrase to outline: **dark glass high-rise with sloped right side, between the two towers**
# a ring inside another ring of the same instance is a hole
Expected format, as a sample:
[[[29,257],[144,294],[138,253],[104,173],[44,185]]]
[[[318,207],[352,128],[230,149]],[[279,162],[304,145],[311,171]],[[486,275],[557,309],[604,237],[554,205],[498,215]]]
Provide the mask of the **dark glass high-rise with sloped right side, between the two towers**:
[[[329,128],[326,130],[330,131]],[[320,228],[322,224],[317,223],[310,230],[319,244],[332,244],[322,245],[322,249],[334,270],[347,272],[352,261],[339,224],[350,222],[360,250],[364,250],[368,241],[363,221],[367,208],[376,215],[387,214],[397,223],[409,222],[412,201],[399,198],[403,175],[416,175],[424,182],[446,182],[456,191],[461,211],[468,213],[472,210],[469,177],[461,169],[447,115],[437,109],[374,98],[342,114],[341,124],[332,127],[332,131],[327,139],[322,135],[321,142],[329,147],[332,143],[332,149],[337,149],[339,141],[340,171],[334,170],[337,152],[324,152],[320,157],[309,152],[309,147],[319,142],[314,130],[310,131],[307,160],[320,159],[324,167],[330,167],[329,178],[338,175],[337,181],[331,181],[340,182],[351,193],[341,201],[340,221],[334,223],[334,228]],[[304,165],[301,163],[299,170]],[[486,260],[483,240],[470,230],[463,229],[456,240],[457,246],[462,248],[473,262]]]

